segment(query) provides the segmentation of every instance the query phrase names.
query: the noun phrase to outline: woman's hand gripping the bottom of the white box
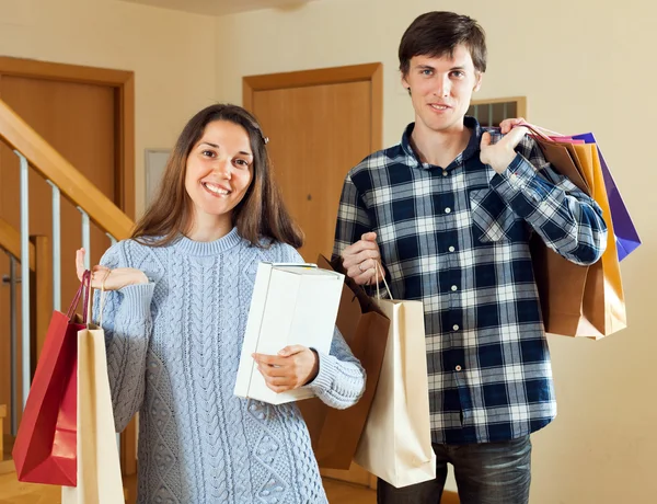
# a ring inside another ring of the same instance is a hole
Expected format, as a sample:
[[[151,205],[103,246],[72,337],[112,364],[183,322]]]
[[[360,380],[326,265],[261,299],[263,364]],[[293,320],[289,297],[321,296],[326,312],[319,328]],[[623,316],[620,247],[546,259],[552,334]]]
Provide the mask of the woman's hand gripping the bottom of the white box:
[[[265,378],[267,387],[276,393],[295,390],[314,380],[320,370],[320,358],[312,350],[301,346],[286,346],[278,355],[252,354],[257,370]]]

